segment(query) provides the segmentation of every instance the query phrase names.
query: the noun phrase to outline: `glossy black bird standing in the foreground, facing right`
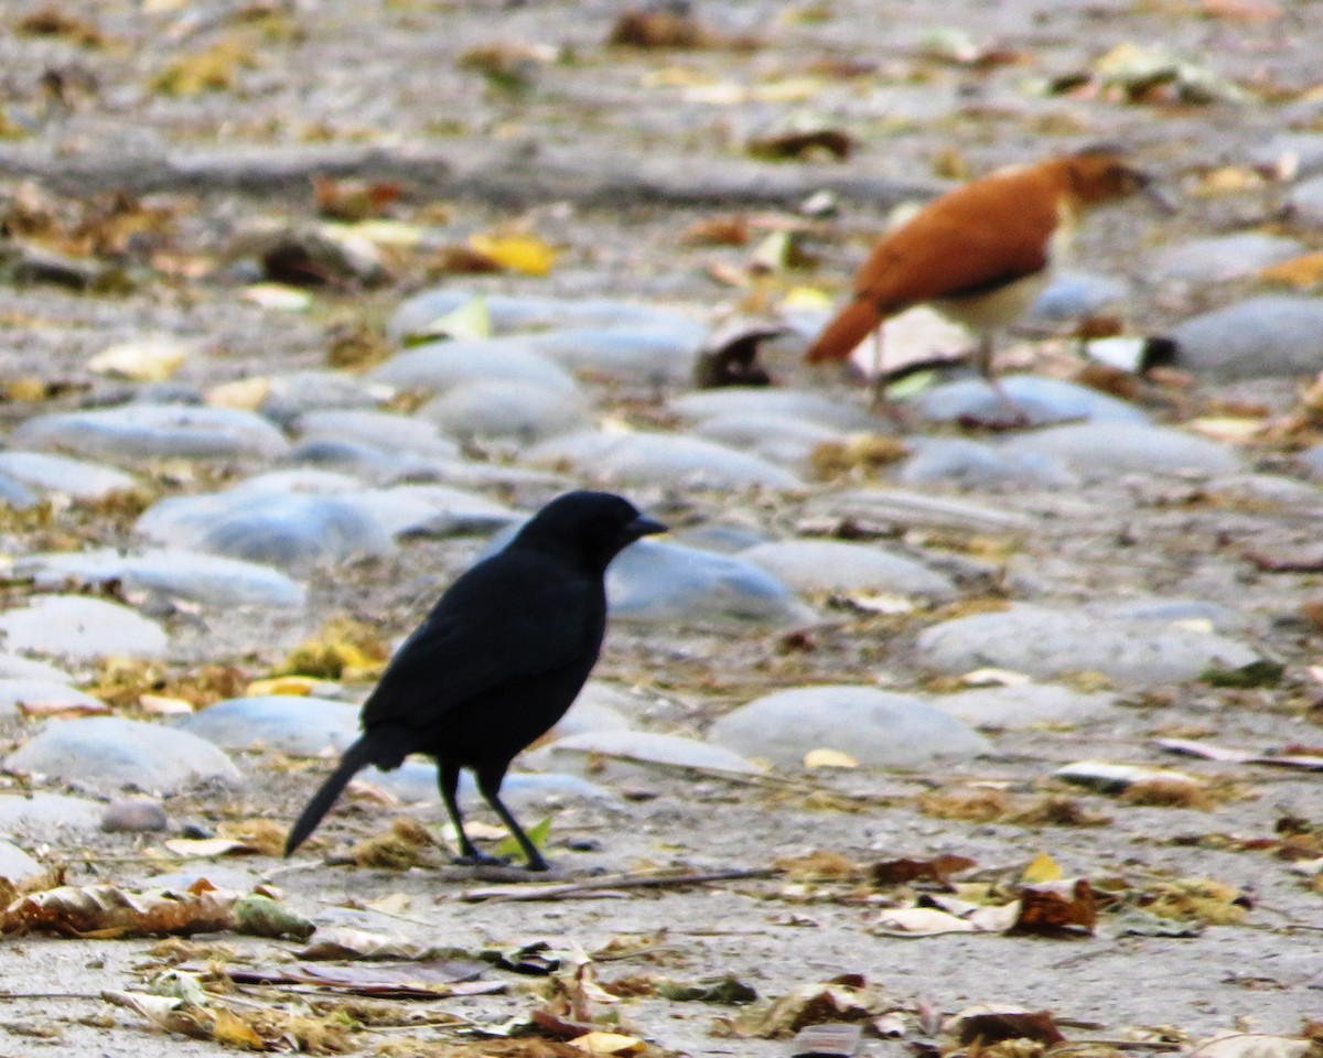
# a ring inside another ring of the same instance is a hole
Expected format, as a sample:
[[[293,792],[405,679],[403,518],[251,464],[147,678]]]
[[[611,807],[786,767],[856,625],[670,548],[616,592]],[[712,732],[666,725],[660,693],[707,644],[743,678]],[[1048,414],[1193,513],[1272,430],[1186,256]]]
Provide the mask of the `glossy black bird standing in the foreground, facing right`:
[[[613,558],[665,526],[610,492],[570,492],[537,512],[500,551],[459,577],[404,641],[363,705],[363,734],[284,842],[292,853],[368,764],[390,771],[422,753],[437,762],[463,864],[499,862],[464,833],[459,770],[519,841],[529,870],[546,861],[501,804],[509,762],[570,708],[606,632],[603,578]]]

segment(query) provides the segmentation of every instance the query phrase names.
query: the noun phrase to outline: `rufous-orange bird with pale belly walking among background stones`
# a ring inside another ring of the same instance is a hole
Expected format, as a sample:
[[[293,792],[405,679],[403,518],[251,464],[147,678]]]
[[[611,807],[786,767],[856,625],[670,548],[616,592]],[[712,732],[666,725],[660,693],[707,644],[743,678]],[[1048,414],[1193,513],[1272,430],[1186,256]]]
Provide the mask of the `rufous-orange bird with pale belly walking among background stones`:
[[[844,361],[876,332],[875,405],[885,405],[881,327],[888,316],[929,304],[978,335],[974,364],[1023,419],[992,373],[994,335],[1013,324],[1048,284],[1086,210],[1139,190],[1162,201],[1122,151],[1091,147],[1000,169],[947,192],[877,241],[855,272],[853,299],[804,358]]]

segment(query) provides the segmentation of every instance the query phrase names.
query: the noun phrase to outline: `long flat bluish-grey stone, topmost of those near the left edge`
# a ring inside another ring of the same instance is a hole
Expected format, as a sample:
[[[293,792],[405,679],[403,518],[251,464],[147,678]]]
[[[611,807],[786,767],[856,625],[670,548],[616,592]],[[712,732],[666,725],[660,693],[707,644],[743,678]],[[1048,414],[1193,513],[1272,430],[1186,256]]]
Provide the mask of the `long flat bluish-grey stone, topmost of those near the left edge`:
[[[251,411],[184,405],[123,405],[36,415],[12,443],[62,448],[98,459],[275,459],[284,435]]]

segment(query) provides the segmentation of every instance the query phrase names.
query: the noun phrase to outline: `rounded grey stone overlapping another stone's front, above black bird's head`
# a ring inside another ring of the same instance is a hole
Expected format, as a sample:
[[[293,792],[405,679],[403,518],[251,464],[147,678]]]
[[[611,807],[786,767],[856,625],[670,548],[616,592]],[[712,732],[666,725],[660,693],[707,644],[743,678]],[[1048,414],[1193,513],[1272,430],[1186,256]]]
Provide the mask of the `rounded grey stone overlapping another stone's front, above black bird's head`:
[[[589,423],[587,402],[579,394],[505,378],[463,382],[429,401],[418,414],[462,440],[508,438],[520,444]]]

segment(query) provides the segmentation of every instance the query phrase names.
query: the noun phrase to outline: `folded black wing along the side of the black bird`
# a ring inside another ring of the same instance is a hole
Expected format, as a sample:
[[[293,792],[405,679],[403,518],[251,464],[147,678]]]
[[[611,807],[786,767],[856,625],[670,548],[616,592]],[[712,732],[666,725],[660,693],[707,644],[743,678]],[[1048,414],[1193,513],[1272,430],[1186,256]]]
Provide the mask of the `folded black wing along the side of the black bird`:
[[[591,665],[605,620],[599,575],[531,550],[500,551],[455,581],[400,647],[363,706],[363,726],[430,726],[511,680]]]

